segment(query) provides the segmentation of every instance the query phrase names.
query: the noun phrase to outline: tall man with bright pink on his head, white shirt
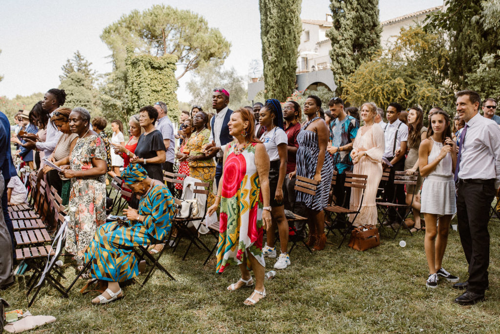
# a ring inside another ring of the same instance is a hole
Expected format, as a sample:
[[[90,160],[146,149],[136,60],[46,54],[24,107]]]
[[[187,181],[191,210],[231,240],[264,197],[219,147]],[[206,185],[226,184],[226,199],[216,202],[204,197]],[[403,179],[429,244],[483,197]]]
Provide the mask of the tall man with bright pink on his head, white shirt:
[[[222,176],[222,157],[225,145],[232,140],[229,135],[227,123],[231,118],[232,110],[227,107],[229,104],[229,92],[224,88],[215,88],[212,94],[212,108],[215,109],[215,116],[210,120],[210,144],[205,148],[207,155],[215,157],[217,166],[215,167],[215,182],[218,187]]]

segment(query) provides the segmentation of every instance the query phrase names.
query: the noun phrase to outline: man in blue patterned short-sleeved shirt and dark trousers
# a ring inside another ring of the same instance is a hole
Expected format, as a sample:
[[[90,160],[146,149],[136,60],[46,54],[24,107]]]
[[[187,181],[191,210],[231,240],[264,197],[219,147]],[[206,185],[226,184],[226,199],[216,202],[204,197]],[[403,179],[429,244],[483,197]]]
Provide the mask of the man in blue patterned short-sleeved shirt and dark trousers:
[[[326,151],[331,154],[333,166],[337,172],[333,195],[335,204],[349,207],[350,188],[344,187],[345,172],[352,171],[352,160],[350,151],[352,143],[356,138],[359,122],[354,117],[349,116],[344,111],[343,101],[340,98],[333,98],[328,102],[331,117],[333,120],[328,125],[330,129],[330,142]]]

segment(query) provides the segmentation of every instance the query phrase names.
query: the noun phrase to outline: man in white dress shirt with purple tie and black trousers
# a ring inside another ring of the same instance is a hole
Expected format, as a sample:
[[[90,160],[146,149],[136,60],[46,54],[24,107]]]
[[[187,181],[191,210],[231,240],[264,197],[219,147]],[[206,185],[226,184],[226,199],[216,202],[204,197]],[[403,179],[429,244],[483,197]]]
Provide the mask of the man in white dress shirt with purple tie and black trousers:
[[[466,90],[455,97],[456,112],[465,121],[455,168],[456,216],[469,276],[453,287],[466,290],[455,302],[467,305],[482,300],[489,285],[488,220],[500,187],[500,128],[479,114],[479,94]]]

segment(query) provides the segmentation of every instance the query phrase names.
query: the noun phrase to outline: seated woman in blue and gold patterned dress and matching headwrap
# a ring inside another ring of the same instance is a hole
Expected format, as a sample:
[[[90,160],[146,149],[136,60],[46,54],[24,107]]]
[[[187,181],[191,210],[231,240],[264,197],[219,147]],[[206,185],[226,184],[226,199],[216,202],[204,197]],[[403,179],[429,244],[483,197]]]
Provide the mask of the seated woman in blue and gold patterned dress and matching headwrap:
[[[170,231],[173,198],[160,181],[147,176],[145,169],[131,163],[121,173],[122,180],[135,195],[141,196],[139,210],[127,208],[129,226],[108,222],[100,226],[84,253],[92,260],[90,275],[108,281],[107,289],[92,303],[104,304],[123,297],[119,282],[138,275],[137,259],[132,247],[147,246],[163,240]]]

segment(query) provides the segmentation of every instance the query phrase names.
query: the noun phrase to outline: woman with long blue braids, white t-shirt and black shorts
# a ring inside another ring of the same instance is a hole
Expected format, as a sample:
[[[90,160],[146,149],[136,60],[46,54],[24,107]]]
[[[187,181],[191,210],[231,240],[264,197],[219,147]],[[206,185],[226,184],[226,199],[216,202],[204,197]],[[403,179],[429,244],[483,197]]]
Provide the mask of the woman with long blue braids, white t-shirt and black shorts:
[[[281,254],[274,264],[276,269],[284,269],[290,265],[288,256],[288,222],[284,215],[283,192],[284,178],[286,174],[286,158],[288,137],[283,130],[283,114],[281,104],[276,99],[265,101],[260,109],[258,123],[265,127],[266,131],[260,136],[269,155],[269,203],[271,205],[271,223],[267,226],[267,242],[262,249],[264,256],[276,257],[274,247],[274,231],[276,224],[279,231],[279,243]]]

